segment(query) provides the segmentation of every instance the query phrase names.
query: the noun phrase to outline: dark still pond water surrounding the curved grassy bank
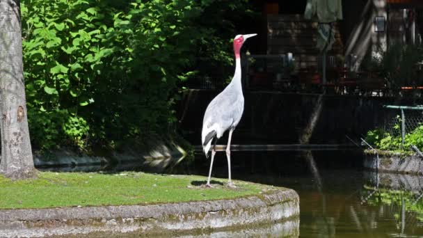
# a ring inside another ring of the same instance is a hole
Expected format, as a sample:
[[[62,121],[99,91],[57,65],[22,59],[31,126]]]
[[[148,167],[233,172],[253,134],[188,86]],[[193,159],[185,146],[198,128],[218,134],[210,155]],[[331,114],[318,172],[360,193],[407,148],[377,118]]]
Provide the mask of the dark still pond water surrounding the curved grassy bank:
[[[225,154],[215,161],[213,176],[227,177]],[[377,174],[361,164],[354,151],[232,152],[235,180],[297,191],[299,221],[180,237],[298,237],[298,223],[299,237],[423,237],[423,177]],[[207,175],[208,166],[198,154],[175,173]]]

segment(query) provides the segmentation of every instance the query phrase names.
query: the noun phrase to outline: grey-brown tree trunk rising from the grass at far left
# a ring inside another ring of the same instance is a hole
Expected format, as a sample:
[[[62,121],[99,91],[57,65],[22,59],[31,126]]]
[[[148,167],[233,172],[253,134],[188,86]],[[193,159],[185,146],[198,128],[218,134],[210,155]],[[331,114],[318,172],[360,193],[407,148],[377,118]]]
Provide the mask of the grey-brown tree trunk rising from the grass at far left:
[[[19,0],[0,0],[0,173],[12,179],[34,177],[26,118]]]

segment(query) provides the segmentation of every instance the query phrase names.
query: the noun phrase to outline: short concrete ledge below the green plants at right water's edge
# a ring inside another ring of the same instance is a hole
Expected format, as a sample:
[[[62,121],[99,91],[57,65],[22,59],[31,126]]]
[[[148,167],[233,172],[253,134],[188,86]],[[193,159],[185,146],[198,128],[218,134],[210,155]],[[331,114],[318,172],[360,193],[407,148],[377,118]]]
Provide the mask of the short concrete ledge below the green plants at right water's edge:
[[[378,161],[374,152],[366,152],[364,167],[387,173],[422,175],[423,158],[418,154],[405,156],[394,152],[379,151]]]

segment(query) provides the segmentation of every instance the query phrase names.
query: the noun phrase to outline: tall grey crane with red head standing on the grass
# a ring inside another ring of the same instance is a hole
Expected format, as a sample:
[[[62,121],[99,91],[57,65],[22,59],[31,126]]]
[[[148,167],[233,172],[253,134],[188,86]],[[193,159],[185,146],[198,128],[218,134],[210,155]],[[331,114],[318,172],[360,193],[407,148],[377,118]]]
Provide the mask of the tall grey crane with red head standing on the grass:
[[[212,167],[214,155],[216,154],[216,141],[221,138],[224,132],[229,130],[228,146],[226,147],[226,157],[228,158],[228,187],[235,187],[230,174],[230,140],[232,132],[241,120],[244,111],[244,95],[241,86],[241,47],[246,40],[257,34],[237,35],[234,38],[235,54],[235,73],[232,81],[226,88],[219,93],[207,106],[204,119],[202,120],[201,141],[202,148],[208,157],[212,147],[212,159],[210,161],[209,177],[207,178],[207,187],[212,187],[210,177],[212,176]]]

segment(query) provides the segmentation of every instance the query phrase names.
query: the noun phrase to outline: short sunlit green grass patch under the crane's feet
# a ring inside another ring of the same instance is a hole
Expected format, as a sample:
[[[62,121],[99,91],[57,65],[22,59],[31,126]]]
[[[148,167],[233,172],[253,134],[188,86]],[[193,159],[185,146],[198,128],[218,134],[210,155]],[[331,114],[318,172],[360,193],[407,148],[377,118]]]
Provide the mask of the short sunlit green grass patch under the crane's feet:
[[[234,181],[237,189],[215,179],[212,189],[199,184],[207,177],[148,173],[51,173],[38,179],[11,181],[0,176],[0,209],[135,205],[216,200],[260,194],[273,187]]]

